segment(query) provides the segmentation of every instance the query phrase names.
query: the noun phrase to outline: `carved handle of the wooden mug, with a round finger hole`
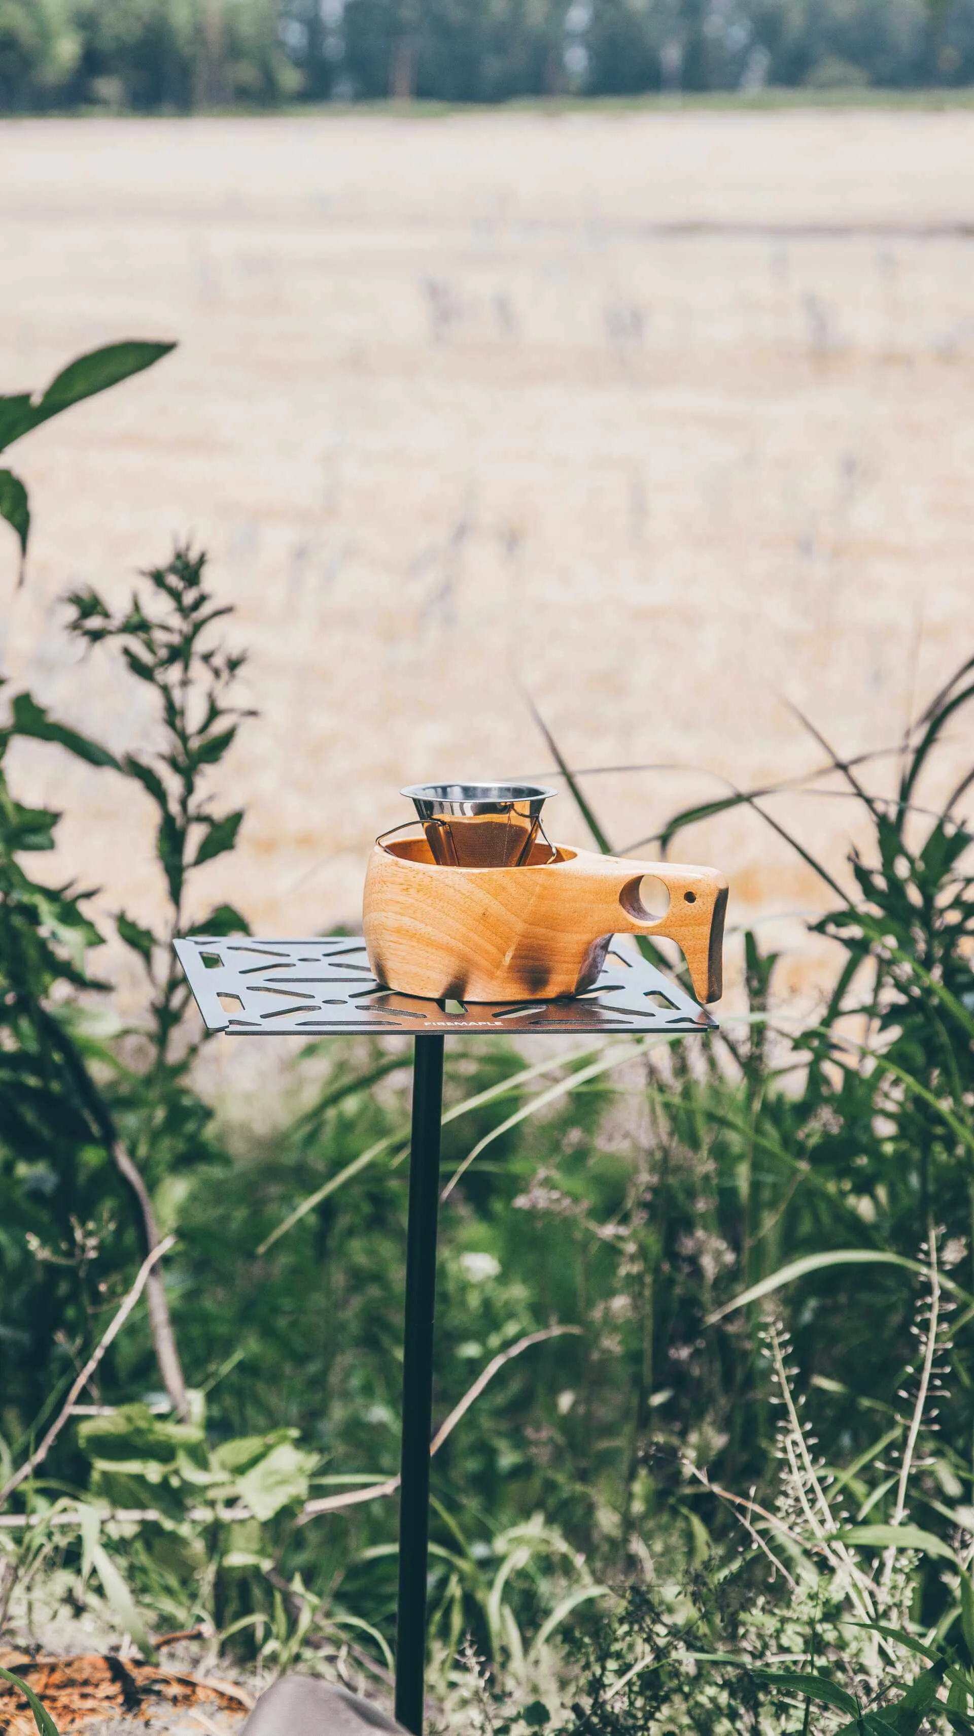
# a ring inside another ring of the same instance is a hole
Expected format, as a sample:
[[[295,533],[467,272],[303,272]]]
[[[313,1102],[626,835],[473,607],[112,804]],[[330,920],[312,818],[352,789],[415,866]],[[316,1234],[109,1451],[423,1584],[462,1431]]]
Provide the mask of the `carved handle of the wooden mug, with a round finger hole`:
[[[640,863],[624,856],[589,858],[601,861],[612,875],[619,898],[617,934],[666,936],[676,941],[698,1000],[719,1000],[723,993],[723,941],[728,884],[716,868],[692,863]],[[588,863],[586,863],[588,866]],[[653,918],[640,903],[640,880],[652,875],[669,892],[664,917]]]

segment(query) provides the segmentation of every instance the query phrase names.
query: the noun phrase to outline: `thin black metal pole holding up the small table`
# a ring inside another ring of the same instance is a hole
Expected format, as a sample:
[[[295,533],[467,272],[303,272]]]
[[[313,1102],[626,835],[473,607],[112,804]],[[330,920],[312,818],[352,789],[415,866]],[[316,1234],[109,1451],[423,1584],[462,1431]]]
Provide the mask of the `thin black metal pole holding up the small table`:
[[[416,1036],[409,1227],[406,1233],[406,1326],[402,1335],[402,1484],[399,1489],[399,1614],[395,1715],[423,1733],[426,1674],[426,1550],[430,1538],[430,1436],[433,1429],[433,1309],[440,1205],[444,1038]]]

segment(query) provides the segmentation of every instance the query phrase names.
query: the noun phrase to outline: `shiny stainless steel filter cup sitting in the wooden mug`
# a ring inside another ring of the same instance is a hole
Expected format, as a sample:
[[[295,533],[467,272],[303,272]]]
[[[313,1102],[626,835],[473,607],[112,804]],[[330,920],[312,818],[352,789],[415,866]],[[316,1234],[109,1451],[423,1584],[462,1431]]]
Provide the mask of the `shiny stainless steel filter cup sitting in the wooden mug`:
[[[400,793],[411,797],[440,868],[522,868],[541,809],[556,795],[536,783],[416,783]]]

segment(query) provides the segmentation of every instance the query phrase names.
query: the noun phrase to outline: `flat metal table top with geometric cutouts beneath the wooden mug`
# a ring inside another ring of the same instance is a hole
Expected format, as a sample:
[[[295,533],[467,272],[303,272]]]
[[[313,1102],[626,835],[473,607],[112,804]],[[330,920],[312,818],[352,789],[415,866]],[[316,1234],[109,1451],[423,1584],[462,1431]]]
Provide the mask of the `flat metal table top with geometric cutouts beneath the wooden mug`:
[[[582,995],[489,1003],[440,1003],[383,988],[359,936],[192,936],[175,941],[175,951],[206,1028],[227,1036],[716,1029],[711,1014],[631,943],[610,944],[598,981]]]

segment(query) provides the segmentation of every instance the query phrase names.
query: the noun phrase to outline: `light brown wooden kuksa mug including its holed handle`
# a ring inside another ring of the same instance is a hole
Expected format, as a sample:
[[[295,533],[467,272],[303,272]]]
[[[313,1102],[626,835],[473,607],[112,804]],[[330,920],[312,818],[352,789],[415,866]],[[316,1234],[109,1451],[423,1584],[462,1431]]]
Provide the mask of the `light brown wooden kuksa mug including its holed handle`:
[[[380,838],[362,927],[380,983],[426,1000],[555,1000],[596,981],[614,934],[667,936],[702,1002],[721,998],[726,880],[714,868],[534,845],[522,868],[451,868],[423,833]],[[640,903],[645,875],[669,908]]]

